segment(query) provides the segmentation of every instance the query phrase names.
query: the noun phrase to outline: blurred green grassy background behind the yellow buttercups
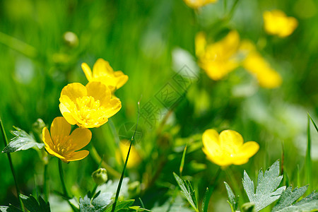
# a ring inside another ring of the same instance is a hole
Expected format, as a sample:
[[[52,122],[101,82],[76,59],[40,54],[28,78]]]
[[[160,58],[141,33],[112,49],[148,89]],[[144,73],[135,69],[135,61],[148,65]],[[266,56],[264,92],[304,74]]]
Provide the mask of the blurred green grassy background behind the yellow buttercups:
[[[223,185],[223,181],[230,184],[229,175],[242,190],[243,170],[254,177],[261,167],[280,159],[283,149],[289,183],[294,187],[298,182],[300,186],[307,184],[305,177],[297,177],[296,170],[299,167],[300,176],[305,175],[307,113],[318,122],[318,2],[235,2],[219,0],[194,10],[182,0],[0,1],[0,115],[8,137],[13,137],[9,133],[12,126],[34,132],[33,123],[39,118],[50,126],[54,117],[61,116],[61,89],[73,82],[85,85],[81,63],[93,67],[102,58],[114,71],[129,76],[115,94],[122,101],[122,110],[112,117],[112,124],[92,129],[91,142],[116,172],[122,172],[122,160],[116,159],[119,139],[133,133],[137,102],[141,102],[140,138],[136,156],[131,158],[134,163],[126,173],[131,182],[127,198],[141,197],[148,209],[175,198],[177,184],[172,172],[179,172],[187,143],[183,176],[192,180],[201,201],[218,170],[201,151],[201,134],[211,128],[218,132],[233,129],[245,141],[260,145],[249,163],[232,165],[230,171],[221,173],[211,211],[230,210]],[[262,13],[272,9],[298,20],[292,35],[281,38],[265,33]],[[196,33],[205,31],[212,34],[212,40],[220,40],[229,30],[237,30],[242,39],[254,42],[281,74],[280,87],[261,88],[242,68],[220,81],[208,78],[199,68]],[[182,73],[191,78],[185,88],[177,80]],[[167,90],[176,93],[170,102],[163,102]],[[148,112],[149,107],[155,107],[155,114]],[[310,127],[312,176],[317,176],[318,136],[312,124]],[[3,142],[0,147],[4,148]],[[41,191],[44,170],[37,151],[11,155],[23,194],[35,194],[36,188]],[[90,175],[99,163],[90,155],[64,165],[66,184],[77,197],[85,196],[94,186]],[[0,166],[0,204],[18,205],[5,154],[0,154]],[[50,204],[57,208],[54,202],[61,202],[54,194],[54,189],[61,191],[57,158],[49,161],[48,169]],[[110,174],[109,178],[115,180],[118,175]],[[317,188],[317,182],[314,177],[312,188]],[[242,199],[247,201],[247,196]],[[176,201],[187,206],[182,199]]]

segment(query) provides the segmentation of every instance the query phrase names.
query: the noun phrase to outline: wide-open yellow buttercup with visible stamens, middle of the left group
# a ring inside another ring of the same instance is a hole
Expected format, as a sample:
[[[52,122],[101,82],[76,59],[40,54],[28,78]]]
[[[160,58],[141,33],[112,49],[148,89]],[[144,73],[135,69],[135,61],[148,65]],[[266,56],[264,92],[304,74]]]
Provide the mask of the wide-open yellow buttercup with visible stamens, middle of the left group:
[[[101,126],[122,108],[122,102],[112,98],[110,89],[96,81],[86,86],[81,83],[65,86],[59,102],[59,110],[66,121],[81,128]]]

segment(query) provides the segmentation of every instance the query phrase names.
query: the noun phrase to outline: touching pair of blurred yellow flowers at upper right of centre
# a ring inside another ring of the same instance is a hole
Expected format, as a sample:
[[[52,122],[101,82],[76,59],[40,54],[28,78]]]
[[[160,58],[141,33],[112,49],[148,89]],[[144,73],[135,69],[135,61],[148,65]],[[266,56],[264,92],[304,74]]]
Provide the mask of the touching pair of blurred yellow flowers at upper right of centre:
[[[222,40],[207,44],[204,33],[196,35],[196,56],[199,66],[213,80],[218,81],[238,66],[243,66],[264,88],[281,86],[282,78],[257,52],[248,40],[240,41],[240,35],[233,30]]]

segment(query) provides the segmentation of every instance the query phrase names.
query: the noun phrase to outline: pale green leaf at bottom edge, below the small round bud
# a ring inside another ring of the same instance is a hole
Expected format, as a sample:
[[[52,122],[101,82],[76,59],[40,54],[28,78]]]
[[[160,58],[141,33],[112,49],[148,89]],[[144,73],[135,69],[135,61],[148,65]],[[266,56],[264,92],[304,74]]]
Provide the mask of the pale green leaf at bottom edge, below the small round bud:
[[[105,208],[110,205],[112,202],[112,193],[98,193],[93,199],[90,199],[88,195],[84,196],[84,199],[79,199],[79,207],[80,211],[88,211],[88,212],[102,212],[105,211]]]

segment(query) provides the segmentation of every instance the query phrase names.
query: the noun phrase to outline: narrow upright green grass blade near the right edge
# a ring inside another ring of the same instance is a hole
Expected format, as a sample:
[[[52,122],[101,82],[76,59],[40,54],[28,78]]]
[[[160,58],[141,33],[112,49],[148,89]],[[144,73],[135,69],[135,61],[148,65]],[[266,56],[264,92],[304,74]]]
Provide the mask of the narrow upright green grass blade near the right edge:
[[[307,151],[306,151],[306,160],[305,160],[305,167],[306,167],[306,178],[307,183],[310,184],[308,187],[307,192],[312,192],[312,158],[311,158],[311,148],[312,148],[312,141],[310,137],[310,115],[308,114],[308,126],[307,126]]]

